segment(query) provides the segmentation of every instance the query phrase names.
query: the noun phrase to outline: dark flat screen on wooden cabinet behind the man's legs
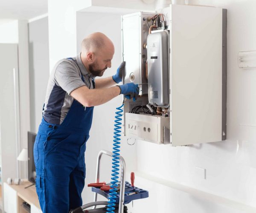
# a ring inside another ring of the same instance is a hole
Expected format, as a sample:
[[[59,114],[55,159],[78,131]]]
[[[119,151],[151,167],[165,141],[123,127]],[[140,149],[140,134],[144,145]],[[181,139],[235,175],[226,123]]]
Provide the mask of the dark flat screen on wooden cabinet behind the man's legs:
[[[34,162],[34,143],[36,134],[28,132],[28,177],[29,181],[35,184],[35,162]]]

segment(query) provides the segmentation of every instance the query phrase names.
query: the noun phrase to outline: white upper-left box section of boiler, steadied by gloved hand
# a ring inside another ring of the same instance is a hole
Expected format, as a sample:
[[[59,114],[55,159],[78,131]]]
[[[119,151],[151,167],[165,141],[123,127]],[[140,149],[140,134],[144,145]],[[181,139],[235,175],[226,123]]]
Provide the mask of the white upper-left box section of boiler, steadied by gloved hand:
[[[125,64],[125,78],[123,83],[139,84],[139,95],[148,93],[146,78],[147,50],[145,49],[148,28],[152,22],[147,22],[147,17],[155,13],[136,12],[122,16],[122,59]],[[143,47],[144,45],[144,47]]]

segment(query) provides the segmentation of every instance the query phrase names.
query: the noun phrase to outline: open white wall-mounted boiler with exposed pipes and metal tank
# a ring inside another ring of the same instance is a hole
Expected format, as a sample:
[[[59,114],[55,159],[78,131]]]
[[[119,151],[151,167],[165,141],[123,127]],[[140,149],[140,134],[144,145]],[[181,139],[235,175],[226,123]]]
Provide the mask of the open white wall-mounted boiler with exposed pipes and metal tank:
[[[226,139],[227,10],[171,5],[128,14],[122,43],[123,83],[144,83],[137,101],[125,101],[124,135],[172,146]]]

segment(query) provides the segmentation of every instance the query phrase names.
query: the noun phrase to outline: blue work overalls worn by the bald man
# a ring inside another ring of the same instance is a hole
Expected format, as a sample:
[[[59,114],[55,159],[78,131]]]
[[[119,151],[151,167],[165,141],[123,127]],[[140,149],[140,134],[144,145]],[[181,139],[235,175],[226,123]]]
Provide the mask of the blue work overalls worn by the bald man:
[[[82,73],[81,76],[84,81]],[[84,152],[92,118],[93,107],[84,107],[76,100],[60,125],[42,118],[35,139],[34,160],[36,191],[43,213],[68,213],[82,205]]]

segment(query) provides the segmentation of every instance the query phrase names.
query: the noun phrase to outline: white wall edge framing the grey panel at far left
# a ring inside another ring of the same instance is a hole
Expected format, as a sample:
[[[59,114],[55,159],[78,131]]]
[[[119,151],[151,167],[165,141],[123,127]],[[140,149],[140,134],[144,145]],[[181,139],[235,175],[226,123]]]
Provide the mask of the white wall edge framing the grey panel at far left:
[[[0,20],[0,43],[18,44],[19,71],[19,130],[17,152],[27,147],[27,131],[30,130],[29,118],[29,54],[27,20]],[[18,162],[20,177],[26,177],[25,164]]]

